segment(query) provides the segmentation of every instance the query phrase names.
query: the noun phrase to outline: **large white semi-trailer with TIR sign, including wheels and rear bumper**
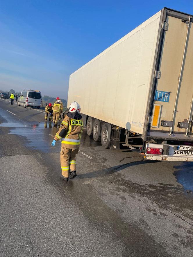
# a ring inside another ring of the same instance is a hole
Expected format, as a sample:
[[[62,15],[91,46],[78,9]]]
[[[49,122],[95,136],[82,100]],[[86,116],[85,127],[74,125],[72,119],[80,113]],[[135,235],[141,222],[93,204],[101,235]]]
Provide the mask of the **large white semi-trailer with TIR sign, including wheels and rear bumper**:
[[[123,136],[145,159],[193,161],[193,18],[162,9],[70,75],[86,130],[105,148]]]

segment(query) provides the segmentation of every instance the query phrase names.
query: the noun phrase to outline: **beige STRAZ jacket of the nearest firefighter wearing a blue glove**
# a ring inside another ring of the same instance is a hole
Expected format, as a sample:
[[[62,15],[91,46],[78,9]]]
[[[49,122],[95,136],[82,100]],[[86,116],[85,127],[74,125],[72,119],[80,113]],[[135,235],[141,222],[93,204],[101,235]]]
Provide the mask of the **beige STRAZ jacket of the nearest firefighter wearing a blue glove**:
[[[67,131],[67,133],[65,133],[64,138],[62,136],[63,131]],[[66,115],[54,139],[56,141],[61,139],[62,146],[65,148],[76,149],[80,146],[82,132],[83,120],[76,120]]]

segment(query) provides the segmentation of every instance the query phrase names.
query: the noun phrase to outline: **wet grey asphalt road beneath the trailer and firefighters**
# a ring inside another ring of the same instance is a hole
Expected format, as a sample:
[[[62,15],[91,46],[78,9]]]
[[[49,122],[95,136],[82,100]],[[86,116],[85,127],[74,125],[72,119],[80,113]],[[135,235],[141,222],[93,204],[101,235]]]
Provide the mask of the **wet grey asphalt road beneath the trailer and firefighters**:
[[[192,163],[143,161],[83,132],[65,182],[56,132],[0,99],[0,256],[193,256]]]

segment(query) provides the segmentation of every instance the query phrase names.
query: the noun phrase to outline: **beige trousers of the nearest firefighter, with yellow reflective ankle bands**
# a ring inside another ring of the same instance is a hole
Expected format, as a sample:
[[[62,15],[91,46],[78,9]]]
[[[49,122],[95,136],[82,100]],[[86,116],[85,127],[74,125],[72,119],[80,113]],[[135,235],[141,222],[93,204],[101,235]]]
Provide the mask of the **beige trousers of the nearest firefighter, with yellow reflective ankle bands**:
[[[62,176],[69,177],[70,172],[76,171],[76,154],[78,153],[78,148],[69,149],[61,147],[60,152],[60,163],[62,169]]]

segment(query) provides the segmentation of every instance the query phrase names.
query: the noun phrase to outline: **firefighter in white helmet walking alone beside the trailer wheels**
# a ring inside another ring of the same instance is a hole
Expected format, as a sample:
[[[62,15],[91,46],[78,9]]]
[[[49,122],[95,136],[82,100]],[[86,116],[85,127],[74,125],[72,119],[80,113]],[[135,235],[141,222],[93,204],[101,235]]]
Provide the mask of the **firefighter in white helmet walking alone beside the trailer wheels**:
[[[83,120],[80,111],[81,107],[77,102],[71,103],[69,112],[65,115],[52,142],[52,146],[55,146],[56,141],[60,139],[62,141],[60,151],[61,179],[66,181],[68,181],[68,178],[76,177],[76,154],[80,147],[83,132]]]

